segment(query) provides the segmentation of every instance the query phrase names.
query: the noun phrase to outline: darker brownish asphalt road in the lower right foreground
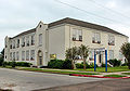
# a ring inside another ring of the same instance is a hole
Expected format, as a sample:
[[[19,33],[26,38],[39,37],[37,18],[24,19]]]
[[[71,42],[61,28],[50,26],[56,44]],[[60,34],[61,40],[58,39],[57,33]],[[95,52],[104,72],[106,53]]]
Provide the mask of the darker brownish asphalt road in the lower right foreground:
[[[35,91],[130,91],[130,79],[103,80]]]

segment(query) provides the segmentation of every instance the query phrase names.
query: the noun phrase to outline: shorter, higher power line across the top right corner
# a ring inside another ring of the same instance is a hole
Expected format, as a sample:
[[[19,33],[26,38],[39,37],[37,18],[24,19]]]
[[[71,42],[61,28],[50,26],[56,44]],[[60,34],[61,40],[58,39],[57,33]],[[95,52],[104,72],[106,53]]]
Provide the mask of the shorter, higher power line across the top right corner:
[[[113,12],[113,13],[115,13],[115,14],[118,14],[118,15],[120,14],[120,16],[130,18],[129,16],[127,16],[127,15],[120,13],[120,12],[117,12],[117,11],[115,11],[115,10],[112,10],[112,9],[109,9],[109,8],[106,8],[105,5],[103,5],[103,4],[101,4],[101,3],[98,3],[98,2],[94,1],[94,0],[89,0],[89,1],[94,2],[96,5],[99,5],[99,6],[101,6],[101,8],[104,8],[104,9],[107,9],[108,11],[110,11],[110,12]]]

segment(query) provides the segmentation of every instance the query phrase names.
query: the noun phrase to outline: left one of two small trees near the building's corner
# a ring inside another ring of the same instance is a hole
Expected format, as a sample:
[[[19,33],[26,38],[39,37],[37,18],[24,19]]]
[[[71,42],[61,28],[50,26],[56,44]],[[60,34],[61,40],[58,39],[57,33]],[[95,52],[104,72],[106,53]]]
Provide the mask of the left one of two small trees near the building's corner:
[[[72,61],[72,69],[76,69],[75,61],[77,58],[78,50],[77,47],[69,48],[66,50],[66,58]]]

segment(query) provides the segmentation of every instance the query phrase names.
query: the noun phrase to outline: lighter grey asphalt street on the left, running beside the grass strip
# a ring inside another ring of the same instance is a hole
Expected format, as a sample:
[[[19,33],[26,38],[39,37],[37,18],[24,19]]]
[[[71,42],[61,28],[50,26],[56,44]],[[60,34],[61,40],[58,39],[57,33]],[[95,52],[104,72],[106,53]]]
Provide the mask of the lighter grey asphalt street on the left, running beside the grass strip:
[[[0,89],[14,91],[30,91],[100,80],[106,79],[0,68]]]

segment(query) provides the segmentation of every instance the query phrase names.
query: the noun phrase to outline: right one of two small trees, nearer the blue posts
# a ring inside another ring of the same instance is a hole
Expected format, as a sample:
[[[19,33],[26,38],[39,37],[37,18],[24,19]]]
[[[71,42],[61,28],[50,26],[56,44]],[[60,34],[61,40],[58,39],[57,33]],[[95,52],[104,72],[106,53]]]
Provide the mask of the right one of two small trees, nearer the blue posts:
[[[86,69],[86,61],[87,57],[89,56],[89,48],[81,44],[78,49],[78,55],[80,55],[81,58],[83,60],[83,69]]]

